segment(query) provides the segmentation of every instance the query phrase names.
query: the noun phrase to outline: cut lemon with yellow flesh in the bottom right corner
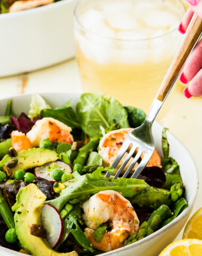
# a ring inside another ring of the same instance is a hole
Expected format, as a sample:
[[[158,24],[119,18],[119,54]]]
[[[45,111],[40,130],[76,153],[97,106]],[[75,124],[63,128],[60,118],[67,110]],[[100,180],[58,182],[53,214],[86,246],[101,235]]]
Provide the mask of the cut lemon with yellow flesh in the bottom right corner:
[[[158,256],[201,256],[202,241],[184,239],[168,245]]]

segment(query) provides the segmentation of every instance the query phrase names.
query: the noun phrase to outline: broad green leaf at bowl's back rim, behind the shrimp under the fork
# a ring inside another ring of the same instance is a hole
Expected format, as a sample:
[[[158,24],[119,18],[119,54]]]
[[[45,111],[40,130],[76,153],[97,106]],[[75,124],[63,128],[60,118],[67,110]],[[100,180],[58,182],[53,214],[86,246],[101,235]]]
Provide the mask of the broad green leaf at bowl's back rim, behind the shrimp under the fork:
[[[82,130],[89,137],[99,137],[100,126],[106,129],[118,123],[121,128],[129,127],[127,111],[119,101],[113,97],[104,97],[102,93],[82,94],[76,112]]]

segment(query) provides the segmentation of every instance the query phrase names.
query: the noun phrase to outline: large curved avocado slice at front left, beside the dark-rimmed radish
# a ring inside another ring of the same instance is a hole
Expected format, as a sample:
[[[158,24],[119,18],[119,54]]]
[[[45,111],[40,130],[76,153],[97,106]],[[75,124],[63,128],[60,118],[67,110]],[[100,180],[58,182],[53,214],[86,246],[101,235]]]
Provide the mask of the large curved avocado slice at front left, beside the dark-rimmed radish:
[[[16,196],[12,210],[15,211],[15,229],[22,247],[33,256],[78,256],[75,251],[56,252],[51,249],[46,239],[30,234],[32,224],[41,224],[40,213],[45,200],[46,196],[33,183],[20,189]]]

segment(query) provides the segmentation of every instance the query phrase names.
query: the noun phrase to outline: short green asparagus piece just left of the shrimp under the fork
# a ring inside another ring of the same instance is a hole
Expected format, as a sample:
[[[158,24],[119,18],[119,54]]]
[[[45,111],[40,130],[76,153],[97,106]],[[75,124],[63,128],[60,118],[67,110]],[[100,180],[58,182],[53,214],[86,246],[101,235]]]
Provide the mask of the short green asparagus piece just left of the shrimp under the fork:
[[[99,143],[99,138],[92,138],[86,145],[79,149],[79,154],[74,160],[74,164],[81,164],[82,166],[85,164],[90,151],[92,151],[95,147],[97,147]]]

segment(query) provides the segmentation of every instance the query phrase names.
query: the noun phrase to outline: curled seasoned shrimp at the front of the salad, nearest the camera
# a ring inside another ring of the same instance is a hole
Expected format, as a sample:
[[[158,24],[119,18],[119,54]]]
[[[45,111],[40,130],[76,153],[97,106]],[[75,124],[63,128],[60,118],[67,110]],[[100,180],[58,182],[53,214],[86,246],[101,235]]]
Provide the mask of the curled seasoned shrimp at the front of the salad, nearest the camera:
[[[97,250],[108,252],[122,247],[125,239],[139,228],[139,220],[131,203],[114,190],[100,191],[82,207],[83,219],[88,227],[85,235]],[[105,222],[110,223],[111,231],[106,231],[98,243],[92,233]]]

